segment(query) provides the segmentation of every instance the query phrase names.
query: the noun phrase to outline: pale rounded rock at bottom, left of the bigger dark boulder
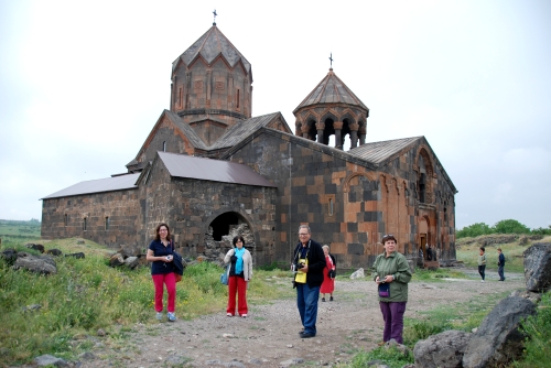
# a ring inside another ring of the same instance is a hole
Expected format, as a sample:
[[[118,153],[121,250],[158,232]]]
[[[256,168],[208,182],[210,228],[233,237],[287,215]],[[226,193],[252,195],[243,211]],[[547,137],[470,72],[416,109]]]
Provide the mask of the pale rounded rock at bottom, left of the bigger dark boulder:
[[[461,368],[471,334],[445,331],[419,340],[413,348],[415,364],[423,368]]]

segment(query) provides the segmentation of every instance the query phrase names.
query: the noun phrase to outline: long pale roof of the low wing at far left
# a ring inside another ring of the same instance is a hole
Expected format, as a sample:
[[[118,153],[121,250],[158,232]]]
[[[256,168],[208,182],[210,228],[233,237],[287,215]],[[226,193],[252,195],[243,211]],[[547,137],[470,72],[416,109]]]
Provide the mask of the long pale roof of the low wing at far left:
[[[98,178],[94,181],[80,182],[58,192],[55,192],[42,199],[57,198],[57,197],[68,197],[73,195],[80,194],[91,194],[91,193],[102,193],[102,192],[114,192],[122,190],[136,190],[136,181],[140,174],[128,174],[115,177]]]

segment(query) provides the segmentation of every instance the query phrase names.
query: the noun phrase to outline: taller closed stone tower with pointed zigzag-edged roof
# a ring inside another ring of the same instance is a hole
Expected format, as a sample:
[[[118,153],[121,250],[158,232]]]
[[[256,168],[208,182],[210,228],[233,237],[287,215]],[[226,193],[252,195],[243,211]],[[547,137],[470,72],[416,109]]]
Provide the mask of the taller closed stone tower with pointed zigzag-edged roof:
[[[216,23],[172,63],[171,107],[207,145],[251,117],[250,63]]]

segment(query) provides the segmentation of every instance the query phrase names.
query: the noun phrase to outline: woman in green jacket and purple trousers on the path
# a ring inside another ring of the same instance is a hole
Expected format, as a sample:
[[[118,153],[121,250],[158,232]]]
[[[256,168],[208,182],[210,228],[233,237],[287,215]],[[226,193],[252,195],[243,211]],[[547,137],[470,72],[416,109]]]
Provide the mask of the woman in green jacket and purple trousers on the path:
[[[406,257],[396,250],[393,235],[382,237],[385,252],[377,256],[374,263],[374,280],[378,285],[379,306],[385,321],[382,345],[390,339],[403,344],[403,313],[408,303],[408,283],[411,271]]]

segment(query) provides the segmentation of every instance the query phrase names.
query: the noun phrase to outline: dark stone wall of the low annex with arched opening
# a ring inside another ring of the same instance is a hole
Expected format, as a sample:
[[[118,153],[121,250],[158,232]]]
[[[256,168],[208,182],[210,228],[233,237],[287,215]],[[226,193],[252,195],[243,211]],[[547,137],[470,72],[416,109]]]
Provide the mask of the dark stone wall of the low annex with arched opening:
[[[161,160],[153,163],[143,185],[145,234],[149,241],[160,223],[171,227],[185,257],[199,256],[205,235],[218,216],[233,213],[255,236],[253,262],[269,264],[274,255],[277,190],[235,183],[171,177]],[[222,256],[225,256],[225,250]]]

